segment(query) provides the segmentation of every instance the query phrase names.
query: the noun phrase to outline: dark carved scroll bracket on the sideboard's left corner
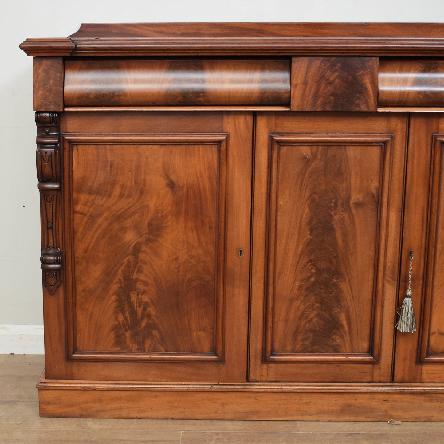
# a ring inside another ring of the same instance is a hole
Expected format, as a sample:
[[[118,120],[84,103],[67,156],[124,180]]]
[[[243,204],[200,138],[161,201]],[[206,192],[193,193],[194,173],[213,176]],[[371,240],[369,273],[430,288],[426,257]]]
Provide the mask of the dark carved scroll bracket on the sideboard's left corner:
[[[36,112],[37,177],[39,179],[42,216],[42,255],[40,262],[43,284],[53,294],[62,281],[62,254],[59,244],[59,116],[55,112]]]

